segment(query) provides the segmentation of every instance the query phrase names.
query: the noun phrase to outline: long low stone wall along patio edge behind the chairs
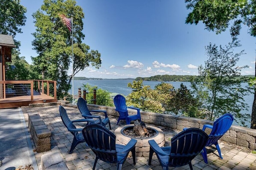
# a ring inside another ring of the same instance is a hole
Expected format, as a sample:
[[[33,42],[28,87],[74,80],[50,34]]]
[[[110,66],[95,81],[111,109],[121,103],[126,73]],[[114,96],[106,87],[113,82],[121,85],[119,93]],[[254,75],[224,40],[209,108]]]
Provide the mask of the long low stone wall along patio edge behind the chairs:
[[[76,107],[76,105],[62,103],[69,107]],[[99,106],[94,104],[88,104],[89,109],[107,110],[108,115],[119,116],[115,107]],[[129,114],[137,114],[136,111],[129,109]],[[170,127],[173,130],[183,130],[185,127],[196,127],[202,129],[204,124],[213,125],[213,121],[189,118],[179,115],[167,115],[154,112],[140,111],[141,119],[145,123],[160,125],[164,127]],[[210,129],[205,130],[206,133],[210,133]],[[242,147],[248,147],[251,150],[256,150],[256,130],[241,127],[238,125],[232,125],[230,129],[221,138],[222,141],[226,141],[232,144],[236,144]]]

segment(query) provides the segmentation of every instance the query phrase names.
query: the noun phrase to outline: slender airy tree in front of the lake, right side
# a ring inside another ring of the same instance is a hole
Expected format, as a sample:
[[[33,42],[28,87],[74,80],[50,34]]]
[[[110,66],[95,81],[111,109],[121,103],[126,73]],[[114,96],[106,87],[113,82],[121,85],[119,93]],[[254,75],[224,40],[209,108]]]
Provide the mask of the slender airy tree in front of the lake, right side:
[[[237,46],[239,42],[236,39],[224,47],[210,43],[205,48],[208,60],[205,66],[199,66],[199,76],[191,80],[191,87],[202,108],[209,111],[209,120],[230,112],[238,123],[244,125],[250,115],[241,113],[241,110],[248,110],[243,96],[250,94],[250,88],[241,84],[248,81],[240,76],[241,69],[247,66],[236,66],[240,55],[244,54],[244,51],[233,53]]]

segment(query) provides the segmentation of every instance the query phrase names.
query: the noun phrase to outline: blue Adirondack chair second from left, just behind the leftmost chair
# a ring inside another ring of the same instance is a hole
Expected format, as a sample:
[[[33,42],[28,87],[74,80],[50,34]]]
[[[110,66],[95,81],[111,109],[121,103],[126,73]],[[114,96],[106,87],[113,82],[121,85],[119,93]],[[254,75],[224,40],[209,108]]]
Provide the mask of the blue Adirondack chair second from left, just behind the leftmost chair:
[[[110,120],[107,116],[107,111],[105,111],[105,110],[89,110],[87,107],[87,102],[83,98],[78,98],[77,107],[84,118],[96,118],[98,120],[95,120],[95,123],[99,123],[104,126],[106,126],[108,124],[109,129],[111,130]],[[101,119],[101,116],[92,115],[91,112],[97,112],[97,113],[102,112],[102,113],[104,113],[105,118]]]

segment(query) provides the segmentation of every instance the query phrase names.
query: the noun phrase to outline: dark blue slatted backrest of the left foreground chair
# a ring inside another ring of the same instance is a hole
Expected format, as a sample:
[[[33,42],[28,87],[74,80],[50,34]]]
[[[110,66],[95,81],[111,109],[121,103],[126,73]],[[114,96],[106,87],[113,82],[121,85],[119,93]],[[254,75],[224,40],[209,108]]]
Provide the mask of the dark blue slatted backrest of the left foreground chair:
[[[101,124],[89,124],[82,130],[85,141],[95,155],[107,163],[116,163],[116,135]]]

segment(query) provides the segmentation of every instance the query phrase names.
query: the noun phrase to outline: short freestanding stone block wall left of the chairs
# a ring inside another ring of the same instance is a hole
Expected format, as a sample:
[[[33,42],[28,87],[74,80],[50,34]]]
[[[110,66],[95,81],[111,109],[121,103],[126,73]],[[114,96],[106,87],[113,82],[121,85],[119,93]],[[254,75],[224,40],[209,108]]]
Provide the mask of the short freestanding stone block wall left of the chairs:
[[[36,152],[51,150],[51,132],[38,113],[28,113],[28,126],[36,146]]]

